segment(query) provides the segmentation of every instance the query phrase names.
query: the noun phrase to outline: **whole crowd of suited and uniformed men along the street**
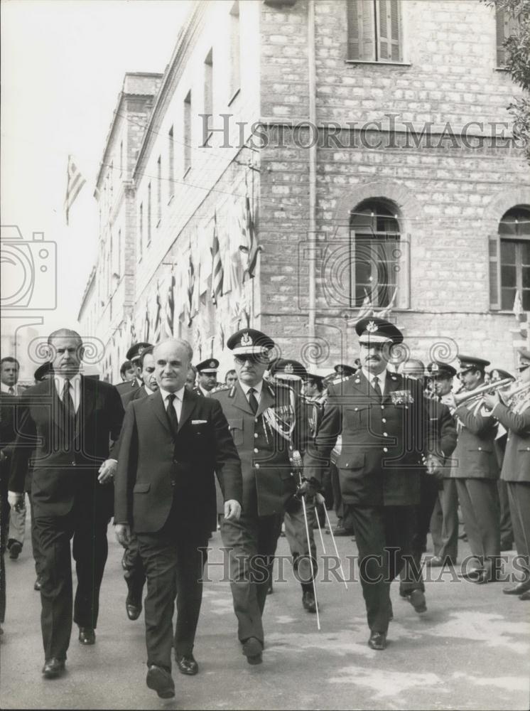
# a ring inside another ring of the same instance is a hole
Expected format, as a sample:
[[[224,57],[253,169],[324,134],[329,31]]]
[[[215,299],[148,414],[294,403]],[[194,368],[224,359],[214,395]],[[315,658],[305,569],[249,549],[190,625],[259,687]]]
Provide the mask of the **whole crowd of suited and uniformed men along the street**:
[[[427,564],[457,564],[459,507],[472,554],[463,576],[502,579],[501,551],[515,542],[521,576],[502,592],[530,599],[530,352],[520,349],[517,378],[466,355],[458,370],[413,358],[396,369],[394,324],[367,318],[356,330],[359,358],[325,377],[272,358],[273,338],[253,328],[228,339],[234,367],[222,385],[219,361],[192,365],[180,339],[135,343],[115,386],[83,375],[82,338],[67,328],[49,336],[48,362],[24,392],[16,359],[1,360],[0,622],[4,553],[16,560],[24,545],[27,493],[45,678],[63,675],[73,623],[82,645],[95,643],[113,517],[126,614],[144,609],[146,683],[161,698],[175,695],[172,656],[180,673],[198,673],[202,571],[218,527],[251,665],[262,661],[283,531],[303,608],[317,615],[313,530],[327,522],[355,535],[374,650],[386,648],[392,580],[418,614],[427,609],[429,530]]]

